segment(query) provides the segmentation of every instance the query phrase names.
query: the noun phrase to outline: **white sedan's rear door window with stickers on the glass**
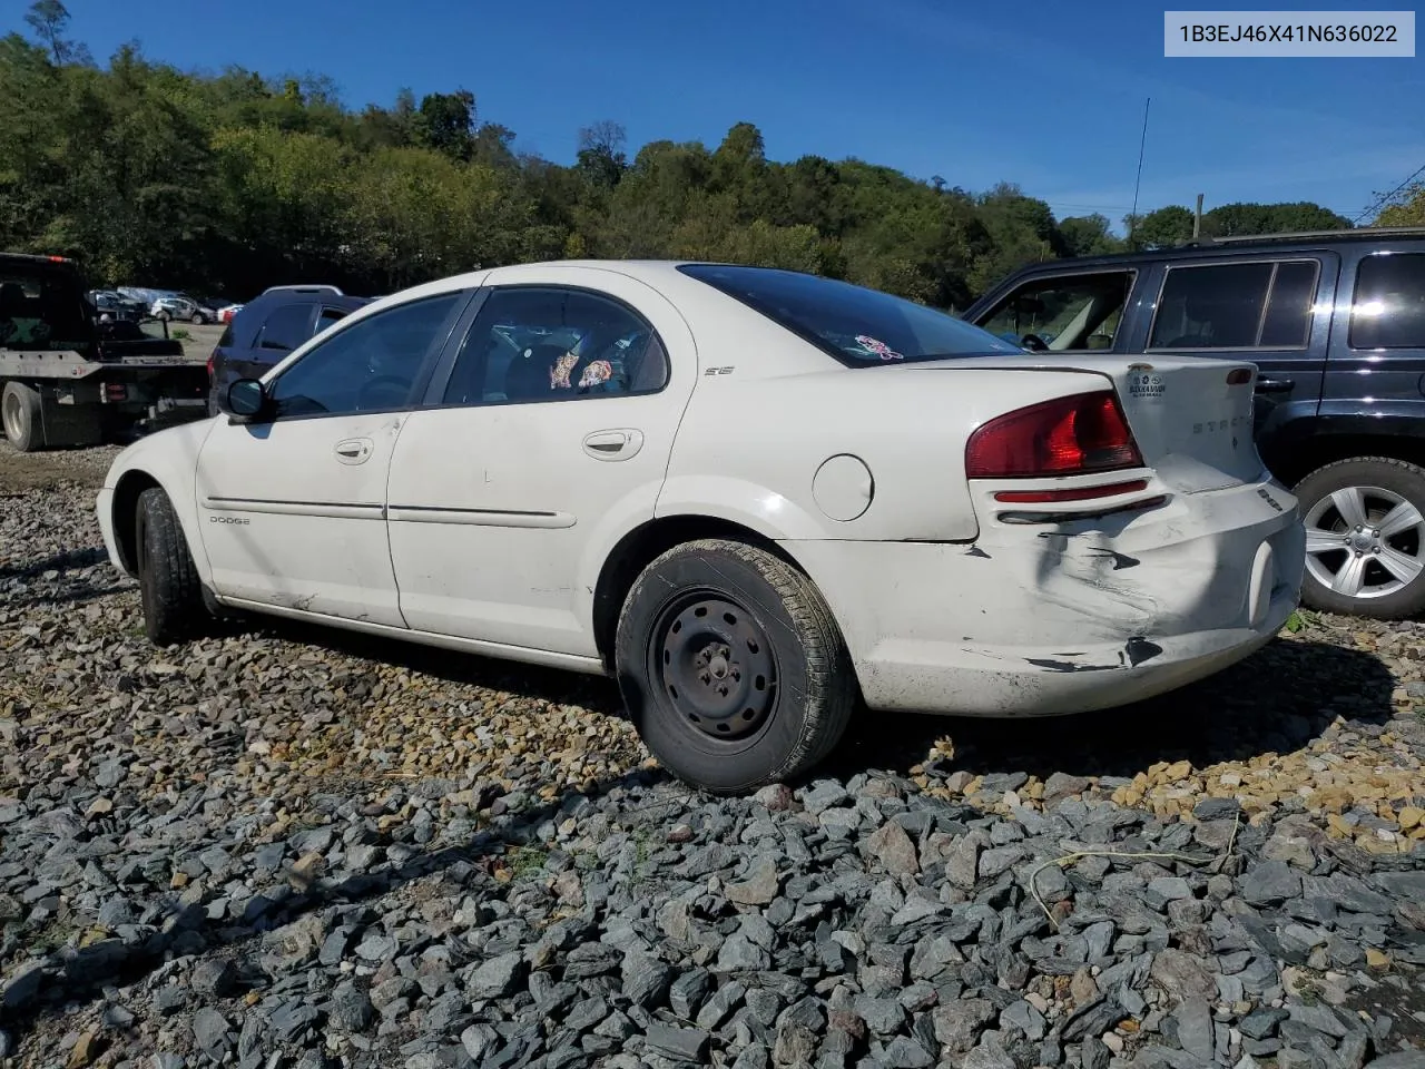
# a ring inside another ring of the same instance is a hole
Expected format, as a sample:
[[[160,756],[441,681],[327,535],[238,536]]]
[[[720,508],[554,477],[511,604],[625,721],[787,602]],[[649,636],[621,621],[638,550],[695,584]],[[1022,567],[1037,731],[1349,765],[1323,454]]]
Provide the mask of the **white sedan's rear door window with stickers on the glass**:
[[[656,393],[668,355],[630,308],[581,289],[496,289],[470,325],[442,403]]]

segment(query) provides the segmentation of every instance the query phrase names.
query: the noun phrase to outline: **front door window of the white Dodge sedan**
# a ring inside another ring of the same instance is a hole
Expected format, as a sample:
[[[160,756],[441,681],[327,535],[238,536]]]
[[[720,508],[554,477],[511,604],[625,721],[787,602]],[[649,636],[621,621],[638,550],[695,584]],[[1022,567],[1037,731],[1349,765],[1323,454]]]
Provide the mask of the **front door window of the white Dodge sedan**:
[[[275,418],[405,408],[426,356],[445,341],[466,298],[460,291],[412,301],[338,331],[271,385]]]

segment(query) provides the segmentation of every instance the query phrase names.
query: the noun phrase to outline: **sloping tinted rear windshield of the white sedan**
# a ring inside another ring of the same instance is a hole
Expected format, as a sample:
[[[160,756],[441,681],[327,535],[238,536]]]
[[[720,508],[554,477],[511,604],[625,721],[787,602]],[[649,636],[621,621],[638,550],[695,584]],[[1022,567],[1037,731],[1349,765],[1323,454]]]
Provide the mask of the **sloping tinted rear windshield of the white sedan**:
[[[721,264],[681,264],[678,271],[851,366],[1025,352],[963,319],[849,282]]]

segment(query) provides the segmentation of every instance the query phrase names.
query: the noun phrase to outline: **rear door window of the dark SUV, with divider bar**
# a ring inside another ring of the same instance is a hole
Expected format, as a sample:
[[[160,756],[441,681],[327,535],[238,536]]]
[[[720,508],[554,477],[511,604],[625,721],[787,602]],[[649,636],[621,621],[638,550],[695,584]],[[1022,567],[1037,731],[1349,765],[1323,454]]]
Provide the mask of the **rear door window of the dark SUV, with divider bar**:
[[[1300,349],[1311,334],[1314,259],[1173,267],[1150,349]]]

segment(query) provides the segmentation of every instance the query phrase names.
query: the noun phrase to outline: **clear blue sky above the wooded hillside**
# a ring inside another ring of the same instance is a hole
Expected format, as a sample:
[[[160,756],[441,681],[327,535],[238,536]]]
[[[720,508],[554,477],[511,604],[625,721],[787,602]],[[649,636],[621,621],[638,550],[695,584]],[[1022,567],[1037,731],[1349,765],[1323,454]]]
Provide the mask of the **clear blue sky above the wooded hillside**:
[[[100,61],[137,38],[185,68],[325,73],[358,107],[463,87],[561,162],[604,118],[630,155],[747,120],[775,160],[1013,181],[1117,224],[1151,97],[1140,210],[1203,192],[1355,217],[1425,164],[1422,60],[1164,58],[1163,6],[1141,0],[66,1]],[[4,7],[21,29],[24,0]]]

